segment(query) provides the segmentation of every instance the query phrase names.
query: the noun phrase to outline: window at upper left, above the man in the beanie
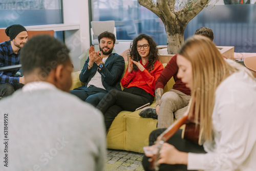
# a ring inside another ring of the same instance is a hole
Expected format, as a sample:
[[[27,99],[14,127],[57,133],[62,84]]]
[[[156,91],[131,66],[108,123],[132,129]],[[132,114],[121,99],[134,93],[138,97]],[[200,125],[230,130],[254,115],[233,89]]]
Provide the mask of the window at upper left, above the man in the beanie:
[[[0,28],[62,23],[60,0],[0,0]]]

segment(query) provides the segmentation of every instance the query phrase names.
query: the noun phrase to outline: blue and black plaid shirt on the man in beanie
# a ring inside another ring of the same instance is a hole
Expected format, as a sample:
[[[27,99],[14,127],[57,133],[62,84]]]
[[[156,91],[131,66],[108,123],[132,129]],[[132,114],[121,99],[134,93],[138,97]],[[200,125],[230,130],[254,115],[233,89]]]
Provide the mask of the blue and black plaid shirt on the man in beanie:
[[[18,54],[12,51],[11,40],[0,43],[0,67],[14,66],[19,64]],[[19,69],[0,72],[0,83],[18,84],[19,77],[15,76]]]

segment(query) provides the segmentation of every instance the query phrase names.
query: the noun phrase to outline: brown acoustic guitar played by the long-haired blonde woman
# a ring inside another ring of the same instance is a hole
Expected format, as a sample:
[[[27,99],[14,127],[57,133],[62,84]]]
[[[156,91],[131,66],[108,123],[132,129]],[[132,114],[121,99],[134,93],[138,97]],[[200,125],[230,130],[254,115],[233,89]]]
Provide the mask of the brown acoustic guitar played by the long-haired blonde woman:
[[[154,150],[155,153],[149,160],[150,168],[152,170],[159,170],[159,164],[157,161],[159,160],[160,149],[163,143],[172,137],[183,124],[185,124],[185,127],[182,131],[182,138],[194,143],[198,143],[199,145],[203,144],[202,132],[200,132],[199,123],[194,121],[194,117],[188,119],[188,113],[185,113],[181,119],[170,125],[161,135],[157,137],[155,142],[157,149],[155,149],[156,151]]]

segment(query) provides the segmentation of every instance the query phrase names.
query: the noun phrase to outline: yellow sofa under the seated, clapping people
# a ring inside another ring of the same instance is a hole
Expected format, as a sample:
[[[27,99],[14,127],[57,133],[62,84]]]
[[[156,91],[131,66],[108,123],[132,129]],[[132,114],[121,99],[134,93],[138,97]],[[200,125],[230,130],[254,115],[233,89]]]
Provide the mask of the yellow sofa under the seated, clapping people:
[[[163,66],[165,67],[166,63]],[[127,62],[125,62],[124,72],[126,68]],[[84,84],[79,80],[79,74],[80,71],[72,73],[71,90]],[[173,88],[174,83],[174,79],[170,79],[164,87],[164,92]],[[156,106],[156,102],[154,101],[151,106]],[[157,120],[142,118],[138,113],[139,110],[135,112],[122,111],[117,115],[106,136],[108,148],[144,153],[143,146],[148,145],[150,133],[157,129]]]

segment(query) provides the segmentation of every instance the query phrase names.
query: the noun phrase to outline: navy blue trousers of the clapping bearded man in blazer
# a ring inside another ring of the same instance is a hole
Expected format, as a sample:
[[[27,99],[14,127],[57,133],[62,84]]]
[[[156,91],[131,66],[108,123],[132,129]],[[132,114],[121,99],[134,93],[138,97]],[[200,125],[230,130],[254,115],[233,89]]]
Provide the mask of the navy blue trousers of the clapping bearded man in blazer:
[[[89,86],[85,89],[74,89],[70,91],[71,94],[76,95],[81,100],[86,101],[94,106],[97,106],[100,100],[108,93],[108,91],[97,88],[95,86]]]

